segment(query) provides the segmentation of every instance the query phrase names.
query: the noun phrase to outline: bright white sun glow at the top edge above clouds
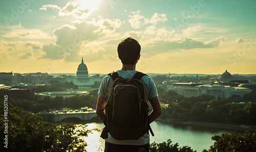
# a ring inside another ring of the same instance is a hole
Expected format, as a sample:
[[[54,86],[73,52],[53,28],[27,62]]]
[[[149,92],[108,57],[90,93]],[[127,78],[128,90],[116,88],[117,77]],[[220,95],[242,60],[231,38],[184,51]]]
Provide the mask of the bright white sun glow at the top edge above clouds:
[[[99,4],[100,0],[94,0],[94,1],[90,1],[90,0],[77,0],[76,3],[79,4],[78,8],[81,10],[86,10],[88,9],[89,12],[93,12],[95,10],[98,9],[98,4]]]

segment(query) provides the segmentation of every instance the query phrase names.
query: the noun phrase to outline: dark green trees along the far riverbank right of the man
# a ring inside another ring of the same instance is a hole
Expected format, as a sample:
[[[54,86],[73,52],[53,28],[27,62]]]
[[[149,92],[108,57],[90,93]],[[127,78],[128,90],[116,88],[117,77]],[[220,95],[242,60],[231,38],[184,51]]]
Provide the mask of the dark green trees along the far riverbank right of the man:
[[[244,97],[253,100],[256,93]],[[242,101],[240,96],[233,95],[229,99],[214,99],[214,96],[205,94],[184,97],[174,91],[160,89],[159,98],[160,102],[168,104],[168,107],[162,108],[162,117],[211,123],[256,124],[256,104],[239,104]]]

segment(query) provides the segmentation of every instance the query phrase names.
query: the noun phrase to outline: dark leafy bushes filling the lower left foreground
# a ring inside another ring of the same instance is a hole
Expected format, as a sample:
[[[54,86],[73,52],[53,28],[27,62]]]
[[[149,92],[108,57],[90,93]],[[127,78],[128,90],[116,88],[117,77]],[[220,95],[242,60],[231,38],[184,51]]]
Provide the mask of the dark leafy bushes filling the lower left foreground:
[[[0,105],[1,109],[3,104]],[[0,114],[3,120],[3,113]],[[8,135],[8,151],[84,151],[87,143],[83,141],[91,131],[86,125],[54,124],[41,117],[8,104],[8,130],[0,125],[0,136]],[[3,122],[3,121],[2,121]],[[0,143],[5,151],[4,142]]]

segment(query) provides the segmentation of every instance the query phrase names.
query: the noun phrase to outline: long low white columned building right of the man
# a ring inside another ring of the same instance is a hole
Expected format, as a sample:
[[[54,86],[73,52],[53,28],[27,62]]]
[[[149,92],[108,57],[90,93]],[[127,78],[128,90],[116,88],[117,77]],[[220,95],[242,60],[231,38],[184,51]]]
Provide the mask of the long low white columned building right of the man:
[[[239,95],[243,97],[245,94],[249,94],[252,90],[242,87],[230,87],[223,85],[198,85],[195,87],[179,86],[168,87],[168,90],[177,92],[179,95],[185,97],[199,96],[202,94],[212,95],[217,98],[230,98],[232,95]]]

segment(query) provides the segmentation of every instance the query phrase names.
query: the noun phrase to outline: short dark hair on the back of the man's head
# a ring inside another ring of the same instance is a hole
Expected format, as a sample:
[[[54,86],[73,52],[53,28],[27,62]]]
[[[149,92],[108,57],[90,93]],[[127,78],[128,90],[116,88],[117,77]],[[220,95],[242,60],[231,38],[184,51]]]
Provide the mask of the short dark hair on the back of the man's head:
[[[134,64],[140,54],[140,44],[131,37],[126,38],[118,44],[117,52],[123,64]]]

